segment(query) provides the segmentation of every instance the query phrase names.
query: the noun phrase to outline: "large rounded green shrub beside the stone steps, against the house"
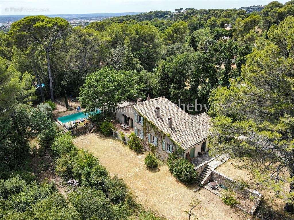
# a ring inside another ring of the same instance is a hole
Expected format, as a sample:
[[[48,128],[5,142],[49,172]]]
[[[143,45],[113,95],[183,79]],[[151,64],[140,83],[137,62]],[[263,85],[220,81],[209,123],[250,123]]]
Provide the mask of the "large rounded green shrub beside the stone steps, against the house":
[[[191,184],[196,181],[198,173],[188,160],[179,158],[174,162],[173,176],[184,183]]]

